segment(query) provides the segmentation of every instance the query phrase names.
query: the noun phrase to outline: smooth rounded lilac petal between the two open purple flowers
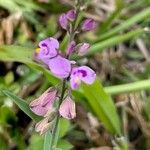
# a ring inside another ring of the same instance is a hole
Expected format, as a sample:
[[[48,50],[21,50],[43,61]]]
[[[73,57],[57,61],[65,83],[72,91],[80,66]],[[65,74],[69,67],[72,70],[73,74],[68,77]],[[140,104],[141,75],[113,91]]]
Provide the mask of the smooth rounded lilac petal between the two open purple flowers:
[[[71,62],[60,55],[50,59],[48,66],[56,77],[67,78],[70,75]]]

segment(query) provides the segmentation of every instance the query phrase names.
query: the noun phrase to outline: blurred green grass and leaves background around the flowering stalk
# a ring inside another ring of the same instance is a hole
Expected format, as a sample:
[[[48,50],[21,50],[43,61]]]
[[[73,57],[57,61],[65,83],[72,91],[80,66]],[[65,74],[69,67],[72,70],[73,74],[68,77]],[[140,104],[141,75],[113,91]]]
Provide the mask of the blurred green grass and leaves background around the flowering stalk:
[[[79,0],[82,1],[82,0]],[[60,79],[34,59],[38,43],[55,37],[65,53],[69,38],[58,18],[70,0],[0,0],[0,150],[48,150],[53,134],[35,131],[43,117],[30,102]],[[91,47],[71,60],[97,79],[71,90],[76,118],[60,117],[57,150],[150,149],[150,1],[88,0],[75,26],[92,18],[97,28],[76,36]]]

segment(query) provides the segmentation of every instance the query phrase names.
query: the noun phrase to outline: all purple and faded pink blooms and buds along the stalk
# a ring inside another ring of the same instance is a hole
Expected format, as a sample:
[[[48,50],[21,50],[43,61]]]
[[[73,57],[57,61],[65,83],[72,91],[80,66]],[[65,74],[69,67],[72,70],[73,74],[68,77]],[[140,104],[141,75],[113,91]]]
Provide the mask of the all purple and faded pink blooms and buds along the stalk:
[[[60,16],[59,24],[63,29],[70,31],[70,27],[75,24],[74,21],[76,18],[76,11],[70,10]],[[88,18],[81,23],[79,28],[73,29],[72,32],[75,33],[76,30],[90,31],[95,27],[95,21]],[[59,51],[58,40],[49,37],[39,43],[39,47],[35,51],[35,59],[46,65],[54,76],[69,81],[71,89],[74,90],[80,87],[81,82],[92,84],[96,78],[96,74],[91,68],[88,66],[77,66],[75,61],[69,59],[74,53],[80,56],[85,55],[89,48],[89,43],[76,44],[76,42],[71,39],[66,53],[62,54]],[[50,127],[49,120],[51,119],[48,118],[48,116],[50,116],[49,110],[53,110],[53,103],[57,95],[58,91],[56,89],[49,88],[38,99],[30,103],[30,108],[35,114],[45,117],[45,119],[36,125],[36,130],[41,134],[45,133]],[[73,119],[76,116],[75,103],[70,96],[67,96],[62,101],[58,112],[66,119]]]

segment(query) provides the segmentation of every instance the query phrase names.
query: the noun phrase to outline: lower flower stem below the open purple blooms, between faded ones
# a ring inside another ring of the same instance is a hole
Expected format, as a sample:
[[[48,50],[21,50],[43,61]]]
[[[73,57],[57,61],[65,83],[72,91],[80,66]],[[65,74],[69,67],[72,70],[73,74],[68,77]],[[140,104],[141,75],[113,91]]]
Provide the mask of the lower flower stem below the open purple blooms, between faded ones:
[[[60,96],[60,99],[59,99],[59,102],[58,102],[58,108],[60,107],[60,104],[63,101],[64,94],[65,94],[65,87],[66,87],[66,79],[64,79],[63,83],[62,83],[62,90],[61,90],[61,96]],[[56,116],[56,121],[55,121],[55,124],[54,124],[53,131],[52,131],[52,140],[51,140],[50,150],[55,149],[56,144],[57,144],[57,142],[56,142],[56,133],[57,133],[57,129],[58,129],[59,118],[60,118],[60,116],[59,116],[59,113],[58,113],[57,116]]]

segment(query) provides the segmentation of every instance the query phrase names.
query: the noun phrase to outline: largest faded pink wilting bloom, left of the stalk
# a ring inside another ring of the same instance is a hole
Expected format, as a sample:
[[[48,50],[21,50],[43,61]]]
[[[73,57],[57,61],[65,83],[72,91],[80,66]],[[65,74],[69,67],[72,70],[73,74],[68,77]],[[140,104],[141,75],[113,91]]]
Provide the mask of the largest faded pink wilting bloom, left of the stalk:
[[[30,109],[39,116],[46,115],[48,110],[53,106],[56,94],[57,91],[55,89],[47,89],[39,98],[30,103]]]

